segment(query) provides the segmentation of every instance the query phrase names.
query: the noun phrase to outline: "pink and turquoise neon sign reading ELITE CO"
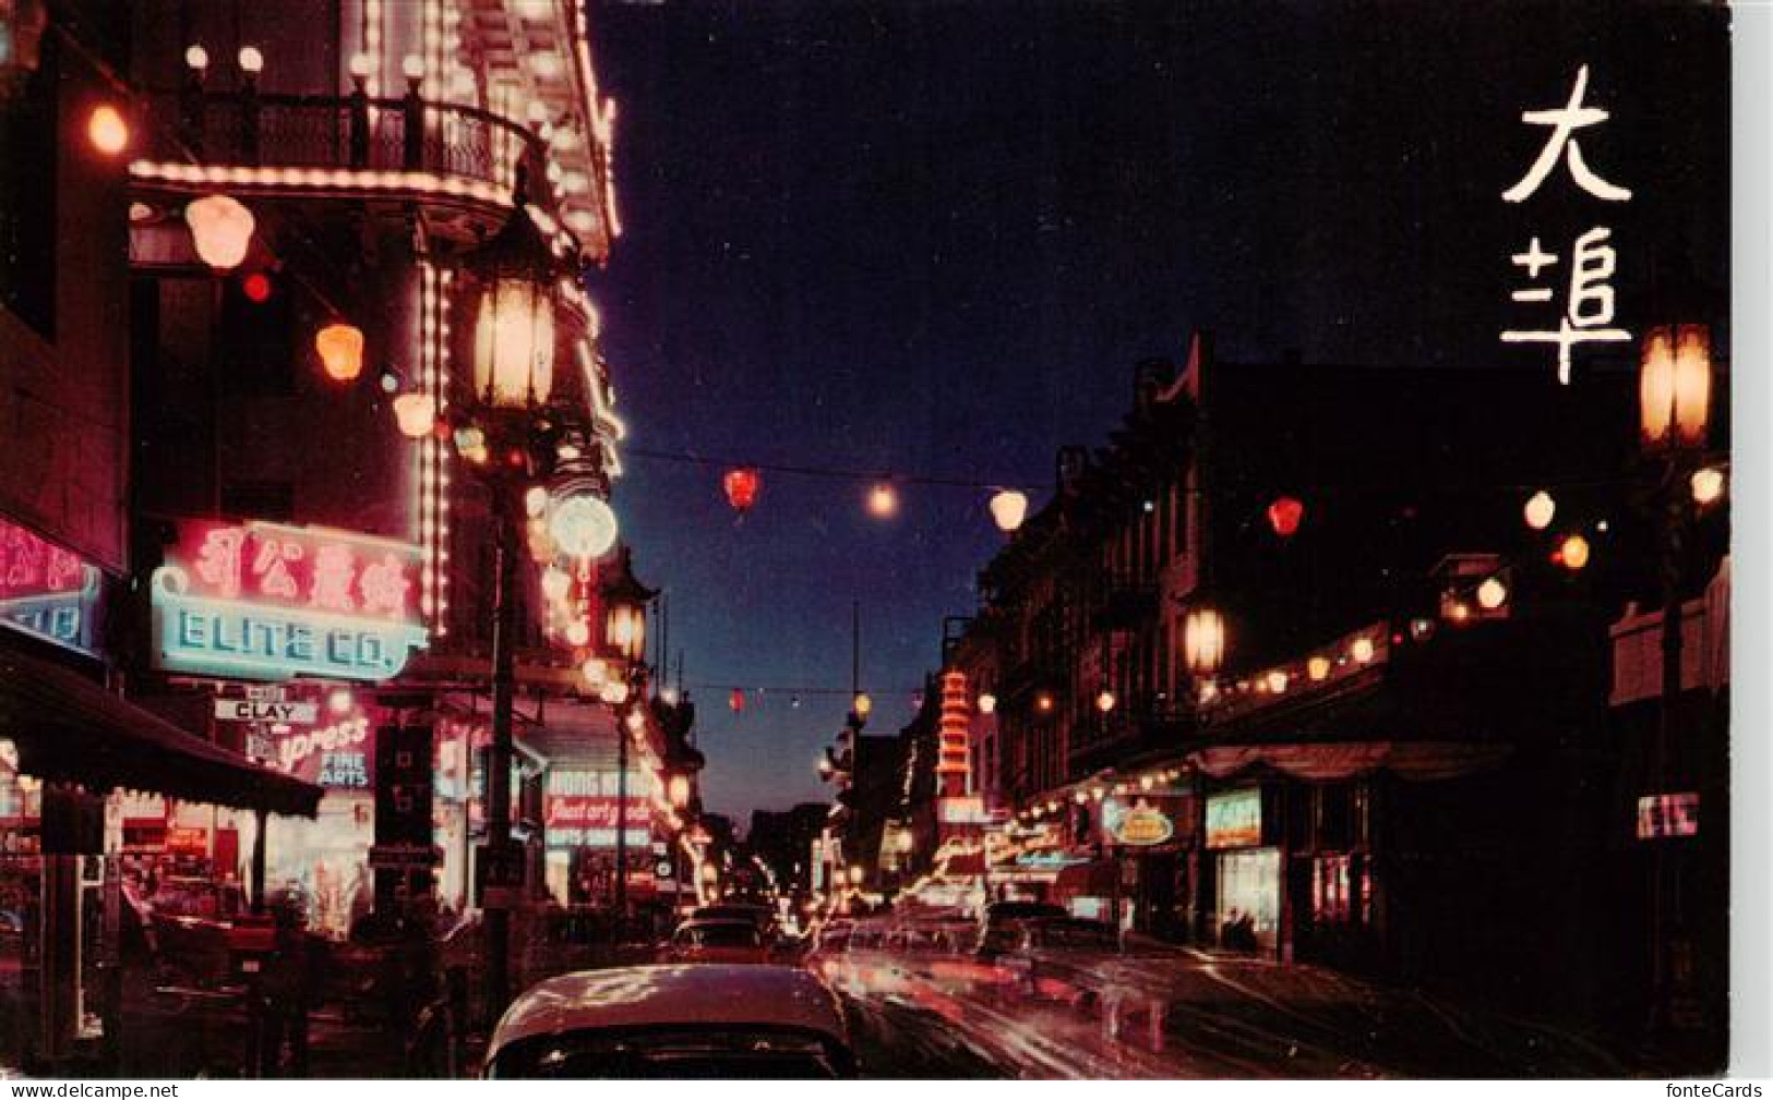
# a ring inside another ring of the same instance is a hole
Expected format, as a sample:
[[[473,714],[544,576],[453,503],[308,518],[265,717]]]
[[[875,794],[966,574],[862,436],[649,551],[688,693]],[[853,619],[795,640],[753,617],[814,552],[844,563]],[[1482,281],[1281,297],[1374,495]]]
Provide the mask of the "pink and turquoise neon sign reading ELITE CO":
[[[287,680],[387,680],[424,648],[418,547],[271,523],[183,524],[152,577],[156,666]]]

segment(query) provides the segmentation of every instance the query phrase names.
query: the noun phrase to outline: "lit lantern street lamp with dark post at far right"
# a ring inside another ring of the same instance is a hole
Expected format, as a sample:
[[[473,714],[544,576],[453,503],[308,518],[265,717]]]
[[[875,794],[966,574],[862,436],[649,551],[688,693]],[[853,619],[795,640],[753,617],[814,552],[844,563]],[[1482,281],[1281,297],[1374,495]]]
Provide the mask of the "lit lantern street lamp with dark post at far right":
[[[1706,446],[1711,418],[1711,331],[1704,324],[1668,324],[1644,337],[1638,367],[1638,439],[1645,455],[1663,462],[1661,480],[1661,700],[1651,746],[1651,792],[1667,794],[1668,746],[1674,744],[1681,698],[1681,556],[1691,500],[1691,473]],[[1651,999],[1658,1022],[1675,1001],[1681,981],[1670,958],[1679,928],[1667,873],[1667,840],[1649,838],[1651,852]]]

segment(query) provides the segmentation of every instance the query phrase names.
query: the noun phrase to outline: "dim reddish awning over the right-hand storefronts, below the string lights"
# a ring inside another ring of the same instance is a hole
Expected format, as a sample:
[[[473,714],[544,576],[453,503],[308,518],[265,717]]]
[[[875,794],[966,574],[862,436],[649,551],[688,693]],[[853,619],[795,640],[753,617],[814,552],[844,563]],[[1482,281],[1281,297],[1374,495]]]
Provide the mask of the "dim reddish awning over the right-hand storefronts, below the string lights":
[[[1238,744],[1215,746],[1188,755],[1195,769],[1225,779],[1252,767],[1308,781],[1335,781],[1386,771],[1402,779],[1454,779],[1502,763],[1504,744],[1456,740],[1353,740],[1321,744]]]

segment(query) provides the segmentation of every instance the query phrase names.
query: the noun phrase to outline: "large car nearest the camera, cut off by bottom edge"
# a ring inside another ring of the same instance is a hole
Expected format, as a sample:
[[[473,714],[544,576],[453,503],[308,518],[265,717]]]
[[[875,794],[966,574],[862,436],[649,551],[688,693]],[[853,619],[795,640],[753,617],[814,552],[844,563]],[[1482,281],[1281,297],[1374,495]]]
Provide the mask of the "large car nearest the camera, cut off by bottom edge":
[[[550,978],[493,1033],[495,1079],[855,1077],[837,997],[798,967],[651,965]]]

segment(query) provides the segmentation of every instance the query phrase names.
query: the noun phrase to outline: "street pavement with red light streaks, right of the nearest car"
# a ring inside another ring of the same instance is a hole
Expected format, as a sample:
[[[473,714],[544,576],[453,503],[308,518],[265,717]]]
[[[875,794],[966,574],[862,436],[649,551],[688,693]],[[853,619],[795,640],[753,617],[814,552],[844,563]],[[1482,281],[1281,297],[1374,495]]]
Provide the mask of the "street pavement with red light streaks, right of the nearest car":
[[[1310,965],[1165,949],[991,965],[855,951],[810,964],[849,1003],[863,1075],[1615,1077],[1583,1036]]]

